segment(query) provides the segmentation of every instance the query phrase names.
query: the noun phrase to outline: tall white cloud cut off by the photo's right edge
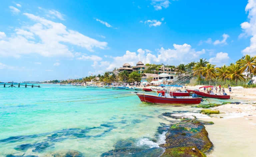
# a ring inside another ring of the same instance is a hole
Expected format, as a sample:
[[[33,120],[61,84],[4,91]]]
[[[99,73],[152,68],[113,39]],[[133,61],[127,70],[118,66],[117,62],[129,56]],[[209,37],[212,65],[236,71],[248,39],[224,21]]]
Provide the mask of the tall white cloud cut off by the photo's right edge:
[[[250,39],[250,46],[242,50],[244,55],[256,55],[256,1],[248,0],[248,4],[245,7],[245,11],[249,12],[248,20],[249,22],[244,22],[241,24],[243,33],[239,37],[252,36]]]

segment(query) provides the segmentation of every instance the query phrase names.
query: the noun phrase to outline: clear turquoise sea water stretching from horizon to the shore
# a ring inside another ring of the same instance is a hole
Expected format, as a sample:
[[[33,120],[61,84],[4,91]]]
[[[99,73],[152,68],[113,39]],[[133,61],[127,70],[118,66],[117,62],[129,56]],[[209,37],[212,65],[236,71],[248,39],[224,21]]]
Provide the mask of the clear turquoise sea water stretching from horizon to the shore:
[[[147,151],[157,156],[163,152],[158,145],[165,142],[165,132],[158,128],[169,123],[161,114],[200,110],[141,103],[128,90],[40,86],[0,88],[1,157],[49,157],[70,150],[88,157],[111,156],[106,152],[127,147],[142,150],[141,156]]]

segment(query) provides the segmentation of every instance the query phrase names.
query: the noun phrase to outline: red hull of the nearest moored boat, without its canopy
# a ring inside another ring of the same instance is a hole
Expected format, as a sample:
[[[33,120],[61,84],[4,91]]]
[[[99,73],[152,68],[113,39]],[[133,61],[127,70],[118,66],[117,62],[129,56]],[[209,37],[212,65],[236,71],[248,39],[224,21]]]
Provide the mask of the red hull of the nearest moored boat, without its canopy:
[[[165,98],[148,94],[137,94],[140,101],[154,104],[199,104],[202,98]]]

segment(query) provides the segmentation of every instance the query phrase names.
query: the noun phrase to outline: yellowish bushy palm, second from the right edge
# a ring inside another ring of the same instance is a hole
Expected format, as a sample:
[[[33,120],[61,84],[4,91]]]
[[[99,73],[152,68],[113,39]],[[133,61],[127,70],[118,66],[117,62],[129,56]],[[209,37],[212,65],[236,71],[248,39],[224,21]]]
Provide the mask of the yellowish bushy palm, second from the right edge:
[[[229,70],[229,74],[226,76],[226,78],[230,78],[230,79],[235,79],[236,81],[236,85],[237,85],[237,79],[244,80],[244,75],[241,74],[241,72],[243,72],[241,65],[240,64],[232,64],[228,67]]]

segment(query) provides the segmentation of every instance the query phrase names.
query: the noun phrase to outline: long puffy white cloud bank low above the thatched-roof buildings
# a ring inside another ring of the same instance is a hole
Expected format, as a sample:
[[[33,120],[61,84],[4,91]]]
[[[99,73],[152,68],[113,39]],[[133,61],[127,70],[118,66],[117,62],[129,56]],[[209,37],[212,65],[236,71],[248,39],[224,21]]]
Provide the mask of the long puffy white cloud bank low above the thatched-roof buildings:
[[[157,53],[153,53],[148,49],[138,49],[137,52],[126,51],[122,56],[108,56],[112,58],[112,61],[101,61],[100,63],[94,61],[92,67],[97,70],[109,71],[113,70],[115,67],[119,68],[124,63],[129,63],[131,66],[136,65],[138,61],[146,63],[155,63],[155,64],[169,64],[177,65],[180,63],[188,63],[200,58],[201,54],[205,53],[205,50],[196,51],[191,48],[189,44],[173,44],[173,49],[164,49],[161,47],[157,49]]]

